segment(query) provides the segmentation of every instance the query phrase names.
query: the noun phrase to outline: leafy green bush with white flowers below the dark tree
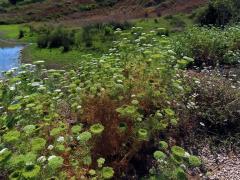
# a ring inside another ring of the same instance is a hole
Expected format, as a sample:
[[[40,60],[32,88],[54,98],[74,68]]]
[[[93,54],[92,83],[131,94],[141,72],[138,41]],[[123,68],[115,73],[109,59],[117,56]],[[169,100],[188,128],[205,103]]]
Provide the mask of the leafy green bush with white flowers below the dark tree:
[[[193,57],[193,65],[215,67],[239,63],[239,39],[240,26],[194,27],[175,36],[172,44],[179,56]]]

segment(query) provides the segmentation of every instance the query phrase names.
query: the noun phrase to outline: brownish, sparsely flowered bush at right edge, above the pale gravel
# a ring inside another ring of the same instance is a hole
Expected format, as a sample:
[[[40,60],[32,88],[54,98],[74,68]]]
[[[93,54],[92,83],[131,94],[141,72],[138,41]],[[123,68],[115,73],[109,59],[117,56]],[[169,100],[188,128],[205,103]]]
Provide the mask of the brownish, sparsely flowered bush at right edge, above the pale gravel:
[[[219,77],[218,73],[211,74],[191,74],[197,77],[197,80],[194,78],[197,84],[192,85],[196,98],[191,119],[203,129],[202,132],[206,130],[206,134],[214,134],[220,140],[231,138],[231,143],[238,142],[240,91],[237,85]]]

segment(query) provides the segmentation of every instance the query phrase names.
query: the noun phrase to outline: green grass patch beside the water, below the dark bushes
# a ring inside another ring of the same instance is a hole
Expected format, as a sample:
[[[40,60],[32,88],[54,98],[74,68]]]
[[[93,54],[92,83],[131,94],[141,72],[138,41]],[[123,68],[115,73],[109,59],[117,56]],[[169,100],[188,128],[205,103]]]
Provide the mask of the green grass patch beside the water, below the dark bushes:
[[[40,49],[35,44],[26,47],[23,51],[23,62],[32,63],[43,60],[50,68],[72,67],[83,59],[83,55],[92,54],[94,57],[100,56],[96,52],[71,50],[63,53],[61,49]]]

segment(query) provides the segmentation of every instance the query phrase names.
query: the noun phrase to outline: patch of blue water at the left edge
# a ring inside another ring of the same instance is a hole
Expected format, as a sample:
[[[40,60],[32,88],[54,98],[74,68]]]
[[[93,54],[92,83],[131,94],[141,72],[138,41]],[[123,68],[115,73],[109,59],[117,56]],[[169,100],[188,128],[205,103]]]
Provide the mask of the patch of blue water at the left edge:
[[[0,73],[20,65],[23,46],[0,47]]]

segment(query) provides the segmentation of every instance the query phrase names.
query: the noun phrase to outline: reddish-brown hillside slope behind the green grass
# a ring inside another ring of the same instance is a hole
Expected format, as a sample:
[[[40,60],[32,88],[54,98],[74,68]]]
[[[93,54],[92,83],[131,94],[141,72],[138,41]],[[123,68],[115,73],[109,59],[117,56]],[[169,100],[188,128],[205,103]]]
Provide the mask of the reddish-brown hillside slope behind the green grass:
[[[45,0],[0,11],[0,23],[64,21],[79,25],[191,11],[207,0],[121,0],[112,6],[95,6],[94,0]]]

